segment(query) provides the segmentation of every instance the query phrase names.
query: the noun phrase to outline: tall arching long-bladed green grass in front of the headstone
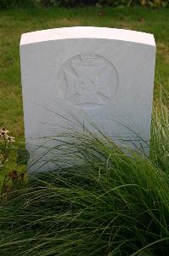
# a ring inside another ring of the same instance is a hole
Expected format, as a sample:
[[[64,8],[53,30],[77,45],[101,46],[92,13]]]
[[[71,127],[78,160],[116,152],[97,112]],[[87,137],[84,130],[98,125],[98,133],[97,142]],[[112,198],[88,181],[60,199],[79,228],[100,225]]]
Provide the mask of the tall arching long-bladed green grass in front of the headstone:
[[[1,255],[166,256],[168,128],[166,107],[156,106],[149,158],[90,131],[55,137],[54,160],[67,154],[70,167],[30,177],[4,197]]]

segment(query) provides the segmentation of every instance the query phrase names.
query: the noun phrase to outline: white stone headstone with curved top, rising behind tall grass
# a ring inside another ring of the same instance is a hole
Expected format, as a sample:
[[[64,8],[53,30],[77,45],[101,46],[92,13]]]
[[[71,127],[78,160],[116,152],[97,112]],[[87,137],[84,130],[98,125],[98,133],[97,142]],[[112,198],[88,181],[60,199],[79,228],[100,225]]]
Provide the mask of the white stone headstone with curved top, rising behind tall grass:
[[[20,61],[31,160],[37,138],[46,145],[45,137],[76,131],[76,119],[84,127],[91,119],[109,137],[149,154],[152,34],[85,26],[29,32],[21,37]]]

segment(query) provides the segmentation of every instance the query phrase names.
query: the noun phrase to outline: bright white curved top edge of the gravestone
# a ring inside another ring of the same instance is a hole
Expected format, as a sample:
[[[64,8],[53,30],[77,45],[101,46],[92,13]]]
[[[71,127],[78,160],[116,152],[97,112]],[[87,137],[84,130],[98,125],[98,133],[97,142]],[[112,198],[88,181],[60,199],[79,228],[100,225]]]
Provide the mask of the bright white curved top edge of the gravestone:
[[[20,39],[20,46],[52,40],[75,38],[113,39],[155,46],[155,38],[153,34],[96,26],[60,27],[36,32],[27,32],[22,34]]]

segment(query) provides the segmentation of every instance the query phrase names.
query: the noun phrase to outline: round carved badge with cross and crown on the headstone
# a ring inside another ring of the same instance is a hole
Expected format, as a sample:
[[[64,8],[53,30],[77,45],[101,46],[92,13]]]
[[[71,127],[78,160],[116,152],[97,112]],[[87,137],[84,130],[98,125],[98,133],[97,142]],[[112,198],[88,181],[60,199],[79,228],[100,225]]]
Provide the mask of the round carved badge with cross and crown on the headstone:
[[[104,105],[115,94],[118,74],[99,55],[76,55],[62,67],[66,83],[65,100],[81,108]]]

